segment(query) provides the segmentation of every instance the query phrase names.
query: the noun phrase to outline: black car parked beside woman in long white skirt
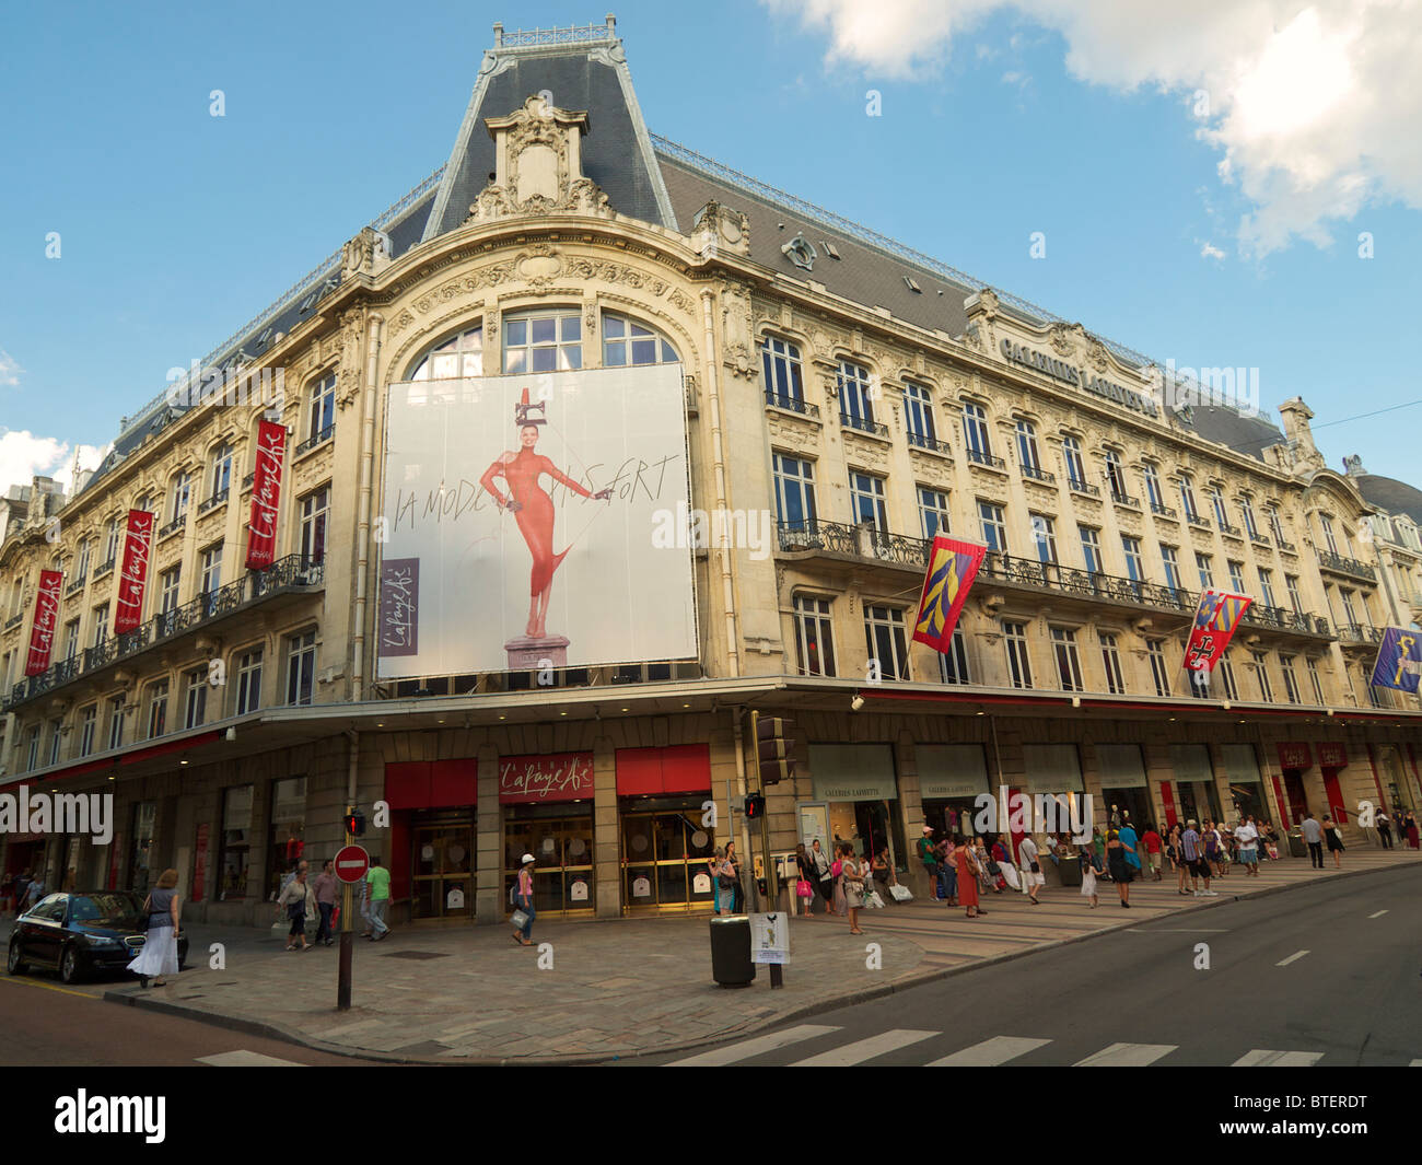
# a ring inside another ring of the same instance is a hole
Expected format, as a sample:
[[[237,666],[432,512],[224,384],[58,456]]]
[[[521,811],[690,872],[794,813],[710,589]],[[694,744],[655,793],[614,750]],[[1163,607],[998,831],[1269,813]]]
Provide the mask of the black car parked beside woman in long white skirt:
[[[65,983],[125,970],[146,942],[142,923],[144,899],[128,890],[46,895],[16,920],[6,970],[53,967]],[[186,962],[188,936],[179,935],[179,969]]]

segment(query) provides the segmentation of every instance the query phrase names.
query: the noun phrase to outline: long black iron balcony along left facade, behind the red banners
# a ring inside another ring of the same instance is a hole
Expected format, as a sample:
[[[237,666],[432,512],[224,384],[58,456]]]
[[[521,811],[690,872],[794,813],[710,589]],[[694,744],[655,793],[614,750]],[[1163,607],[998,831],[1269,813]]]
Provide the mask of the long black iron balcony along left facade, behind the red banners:
[[[159,643],[171,642],[186,632],[218,623],[283,595],[309,595],[320,590],[324,585],[326,568],[323,563],[313,563],[303,555],[290,555],[274,562],[266,570],[253,570],[218,590],[199,595],[185,606],[155,615],[142,626],[112,636],[74,659],[57,663],[48,671],[20,680],[0,703],[0,713],[11,711],[81,677],[94,676],[121,660],[146,651]]]

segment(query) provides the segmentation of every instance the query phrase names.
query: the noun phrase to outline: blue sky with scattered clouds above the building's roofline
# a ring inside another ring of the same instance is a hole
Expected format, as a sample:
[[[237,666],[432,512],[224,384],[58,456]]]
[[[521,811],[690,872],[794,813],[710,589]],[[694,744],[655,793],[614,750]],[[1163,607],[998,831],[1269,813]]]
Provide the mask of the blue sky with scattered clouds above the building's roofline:
[[[1358,452],[1371,472],[1422,485],[1422,407],[1330,424],[1422,398],[1422,216],[1408,205],[1422,201],[1422,165],[1405,131],[1419,90],[1396,87],[1369,50],[1418,30],[1325,30],[1351,55],[1337,92],[1300,112],[1328,88],[1328,61],[1307,44],[1288,55],[1287,6],[1257,43],[1203,17],[1194,41],[1182,31],[1165,53],[1173,30],[1135,28],[1119,0],[1069,17],[1051,0],[973,0],[951,27],[923,3],[616,11],[654,132],[1156,360],[1258,368],[1266,407],[1308,401],[1332,467]],[[495,20],[602,16],[566,3],[11,7],[0,489],[112,440],[168,368],[205,356],[439,166]],[[717,51],[691,60],[705,46]],[[1190,53],[1203,63],[1179,60]],[[1229,91],[1226,74],[1256,90]],[[1288,101],[1268,107],[1260,84]],[[1204,119],[1202,85],[1214,100]],[[209,115],[215,88],[222,118]],[[869,90],[880,117],[866,114]],[[1357,108],[1365,122],[1349,121]],[[1367,139],[1361,161],[1337,154],[1340,125]],[[1314,168],[1307,189],[1290,182],[1300,156]],[[1358,256],[1364,230],[1371,259]],[[46,257],[48,232],[58,259]]]

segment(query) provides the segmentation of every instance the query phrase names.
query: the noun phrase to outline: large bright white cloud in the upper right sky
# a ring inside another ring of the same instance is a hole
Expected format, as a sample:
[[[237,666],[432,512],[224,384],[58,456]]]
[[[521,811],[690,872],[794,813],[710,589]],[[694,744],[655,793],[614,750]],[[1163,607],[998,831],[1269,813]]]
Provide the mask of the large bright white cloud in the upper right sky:
[[[931,75],[953,40],[995,11],[1061,34],[1082,81],[1207,100],[1196,134],[1251,209],[1247,253],[1369,203],[1422,208],[1422,6],[1418,0],[762,0],[829,33],[826,58],[890,77]]]

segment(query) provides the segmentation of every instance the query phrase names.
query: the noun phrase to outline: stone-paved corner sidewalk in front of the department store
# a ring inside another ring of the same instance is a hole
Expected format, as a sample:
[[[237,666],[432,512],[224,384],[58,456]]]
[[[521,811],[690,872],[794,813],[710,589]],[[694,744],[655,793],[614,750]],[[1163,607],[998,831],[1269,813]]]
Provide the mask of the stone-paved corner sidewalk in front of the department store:
[[[702,916],[539,922],[533,940],[552,945],[547,970],[538,967],[539,950],[516,946],[503,925],[402,927],[375,945],[357,937],[354,1006],[346,1013],[336,1011],[338,947],[287,953],[259,932],[223,936],[195,926],[191,967],[175,982],[146,991],[117,984],[104,997],[397,1063],[592,1063],[714,1043],[1166,915],[1389,868],[1412,876],[1422,858],[1348,851],[1341,872],[1331,862],[1318,872],[1304,859],[1267,862],[1258,878],[1216,879],[1220,896],[1209,899],[1180,898],[1167,875],[1132,883],[1129,910],[1109,882],[1096,909],[1075,888],[1044,890],[1039,906],[990,893],[977,920],[913,902],[865,910],[862,937],[849,935],[845,919],[796,919],[776,991],[766,967],[751,987],[715,986]],[[225,970],[208,969],[210,942],[228,943]],[[866,964],[869,943],[879,945],[882,969]]]

